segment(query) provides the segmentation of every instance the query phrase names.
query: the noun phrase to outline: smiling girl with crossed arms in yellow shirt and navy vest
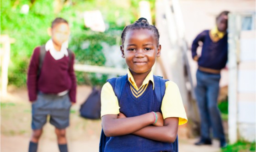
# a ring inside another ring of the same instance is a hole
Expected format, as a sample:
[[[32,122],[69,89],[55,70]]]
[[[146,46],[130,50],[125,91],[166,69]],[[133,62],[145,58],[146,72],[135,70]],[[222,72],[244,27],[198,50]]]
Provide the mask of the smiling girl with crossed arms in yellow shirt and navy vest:
[[[124,28],[121,38],[128,73],[120,100],[110,81],[101,91],[102,128],[110,137],[105,152],[172,152],[178,125],[187,123],[187,116],[172,81],[165,82],[161,104],[156,101],[152,67],[160,57],[159,32],[140,18]]]

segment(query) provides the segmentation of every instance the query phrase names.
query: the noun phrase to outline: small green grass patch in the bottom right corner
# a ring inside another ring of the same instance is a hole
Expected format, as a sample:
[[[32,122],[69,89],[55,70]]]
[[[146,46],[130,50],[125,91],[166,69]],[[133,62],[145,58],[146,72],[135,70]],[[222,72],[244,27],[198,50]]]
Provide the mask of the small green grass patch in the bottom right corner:
[[[221,152],[255,152],[255,142],[238,141],[222,148]]]

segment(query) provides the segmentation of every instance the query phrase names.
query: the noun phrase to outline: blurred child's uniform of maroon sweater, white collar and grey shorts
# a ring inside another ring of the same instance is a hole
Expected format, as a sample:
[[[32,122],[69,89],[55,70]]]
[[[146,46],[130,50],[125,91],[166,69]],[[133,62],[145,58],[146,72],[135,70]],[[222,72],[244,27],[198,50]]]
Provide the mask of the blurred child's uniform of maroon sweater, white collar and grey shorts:
[[[32,129],[41,129],[50,115],[50,123],[59,129],[69,126],[71,102],[76,102],[75,55],[69,62],[67,45],[56,51],[50,39],[45,45],[45,57],[40,71],[40,47],[36,47],[27,74],[27,89],[32,103]],[[70,64],[70,65],[69,65]]]

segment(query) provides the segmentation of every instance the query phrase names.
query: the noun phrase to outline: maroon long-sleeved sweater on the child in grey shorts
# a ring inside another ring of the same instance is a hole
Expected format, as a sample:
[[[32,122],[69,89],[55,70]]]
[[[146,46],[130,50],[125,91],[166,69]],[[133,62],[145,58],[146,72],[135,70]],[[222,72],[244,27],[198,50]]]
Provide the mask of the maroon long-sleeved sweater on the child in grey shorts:
[[[75,54],[72,53],[72,60],[69,63],[69,57],[64,56],[59,60],[55,60],[51,53],[47,51],[43,59],[39,78],[37,79],[39,55],[40,47],[36,47],[32,54],[27,73],[29,100],[37,100],[38,91],[45,94],[58,94],[59,92],[69,90],[70,100],[76,102]]]

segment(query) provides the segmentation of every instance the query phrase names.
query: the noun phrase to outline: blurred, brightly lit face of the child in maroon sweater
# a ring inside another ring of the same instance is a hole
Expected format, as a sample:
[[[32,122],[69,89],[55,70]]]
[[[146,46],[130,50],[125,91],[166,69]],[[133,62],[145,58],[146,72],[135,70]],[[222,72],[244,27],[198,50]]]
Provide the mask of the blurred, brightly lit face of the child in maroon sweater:
[[[62,43],[69,39],[69,25],[67,23],[59,23],[51,29],[51,37],[55,45],[61,46]]]

